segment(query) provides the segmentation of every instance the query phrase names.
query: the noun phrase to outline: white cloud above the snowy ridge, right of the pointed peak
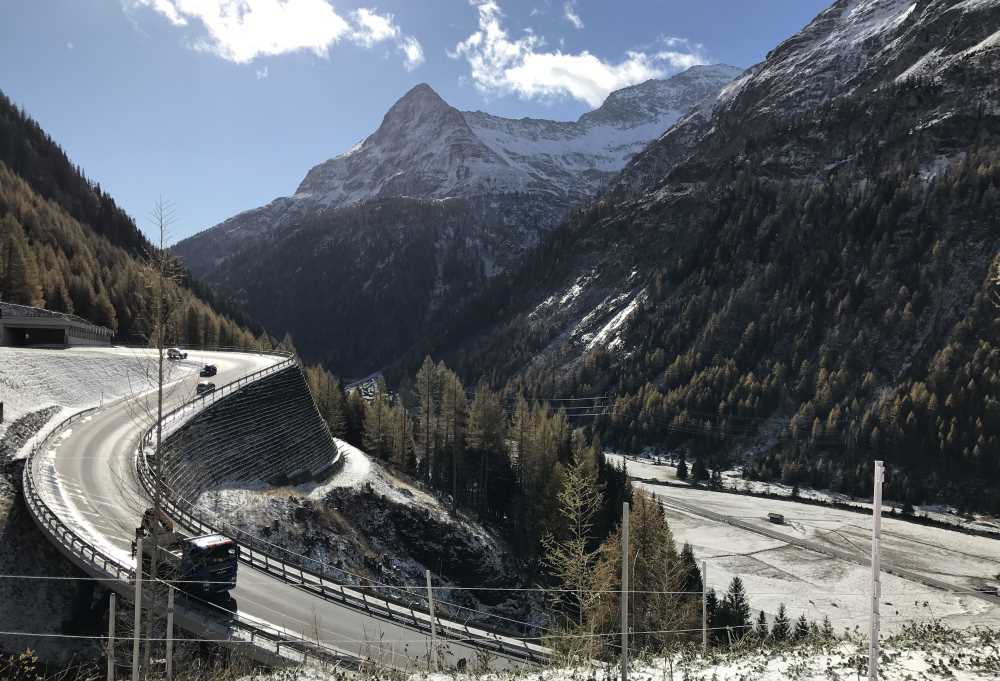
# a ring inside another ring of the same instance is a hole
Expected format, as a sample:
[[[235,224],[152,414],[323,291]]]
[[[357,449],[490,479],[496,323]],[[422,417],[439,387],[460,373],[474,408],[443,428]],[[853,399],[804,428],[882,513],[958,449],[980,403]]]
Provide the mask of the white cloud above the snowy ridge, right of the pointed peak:
[[[662,78],[671,71],[704,63],[700,45],[664,38],[663,49],[633,50],[618,63],[584,50],[545,51],[545,41],[530,29],[512,39],[501,23],[495,0],[470,0],[479,13],[479,30],[449,53],[464,58],[476,88],[486,94],[516,94],[526,99],[572,97],[599,106],[613,90]]]

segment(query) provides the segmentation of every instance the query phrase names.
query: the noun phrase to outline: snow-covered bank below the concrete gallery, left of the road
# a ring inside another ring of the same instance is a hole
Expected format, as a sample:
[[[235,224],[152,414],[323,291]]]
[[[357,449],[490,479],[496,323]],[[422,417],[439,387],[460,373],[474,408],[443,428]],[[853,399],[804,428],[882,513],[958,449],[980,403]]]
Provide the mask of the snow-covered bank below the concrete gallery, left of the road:
[[[192,356],[166,364],[167,380],[176,381],[201,367]],[[0,401],[4,422],[0,438],[14,420],[49,406],[62,410],[47,424],[73,412],[96,407],[126,395],[144,393],[156,385],[155,351],[133,348],[67,348],[41,350],[0,347]],[[36,438],[37,439],[37,436]],[[30,442],[22,447],[23,456]]]

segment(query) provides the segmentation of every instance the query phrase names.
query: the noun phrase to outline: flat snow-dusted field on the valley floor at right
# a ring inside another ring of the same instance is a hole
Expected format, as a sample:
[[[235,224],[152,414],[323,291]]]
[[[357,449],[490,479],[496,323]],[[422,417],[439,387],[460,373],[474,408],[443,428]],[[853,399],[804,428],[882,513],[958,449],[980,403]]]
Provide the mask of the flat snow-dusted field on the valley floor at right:
[[[725,590],[738,575],[754,611],[773,615],[784,603],[793,617],[828,616],[840,632],[867,626],[870,516],[689,487],[636,485],[664,503],[678,544],[690,543],[696,557],[707,561],[708,582],[717,591]],[[726,518],[705,517],[692,509]],[[786,524],[768,522],[767,513],[772,511],[783,514]],[[749,527],[734,526],[725,522],[728,519]],[[1000,606],[972,593],[976,587],[998,584],[1000,541],[892,518],[883,519],[882,530],[884,565],[953,588],[944,591],[883,573],[885,631],[930,620],[955,627],[1000,626]],[[831,556],[826,550],[846,552],[854,559]]]

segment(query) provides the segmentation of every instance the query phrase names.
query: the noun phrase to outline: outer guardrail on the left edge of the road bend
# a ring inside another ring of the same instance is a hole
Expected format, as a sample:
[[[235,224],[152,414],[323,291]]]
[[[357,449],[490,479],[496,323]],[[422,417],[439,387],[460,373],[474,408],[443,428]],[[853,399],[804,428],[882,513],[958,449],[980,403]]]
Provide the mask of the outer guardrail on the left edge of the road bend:
[[[63,555],[91,577],[102,580],[105,586],[131,600],[135,593],[135,566],[113,556],[64,522],[45,501],[35,480],[39,454],[45,452],[52,440],[66,428],[95,411],[97,408],[87,409],[63,420],[31,449],[22,473],[24,499],[35,524]],[[147,593],[143,601],[148,599],[155,603],[153,598]],[[245,647],[249,643],[253,656],[266,664],[306,662],[309,659],[337,666],[357,662],[350,653],[312,641],[293,631],[248,619],[207,602],[192,603],[190,607],[185,607],[184,602],[179,601],[176,608],[178,626],[221,645],[240,644]]]

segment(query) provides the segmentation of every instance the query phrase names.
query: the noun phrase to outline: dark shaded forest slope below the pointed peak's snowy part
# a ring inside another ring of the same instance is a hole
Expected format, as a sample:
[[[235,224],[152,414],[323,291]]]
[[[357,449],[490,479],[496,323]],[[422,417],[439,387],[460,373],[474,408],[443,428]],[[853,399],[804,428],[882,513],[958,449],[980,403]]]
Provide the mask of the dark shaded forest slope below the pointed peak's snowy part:
[[[389,198],[324,212],[266,249],[245,249],[212,283],[341,375],[363,375],[423,342],[487,280],[518,212],[486,201]],[[499,242],[499,243],[498,243]]]

